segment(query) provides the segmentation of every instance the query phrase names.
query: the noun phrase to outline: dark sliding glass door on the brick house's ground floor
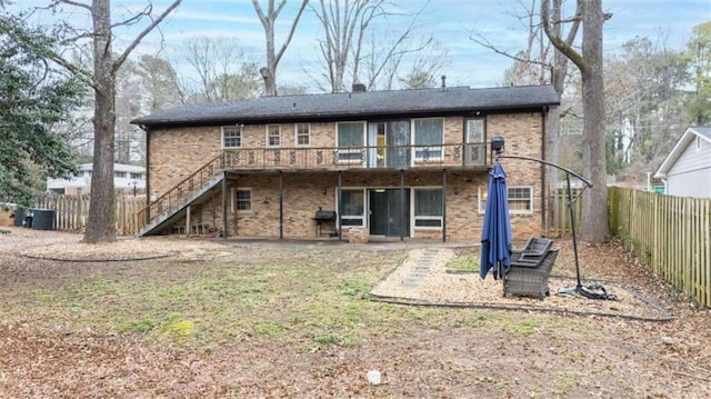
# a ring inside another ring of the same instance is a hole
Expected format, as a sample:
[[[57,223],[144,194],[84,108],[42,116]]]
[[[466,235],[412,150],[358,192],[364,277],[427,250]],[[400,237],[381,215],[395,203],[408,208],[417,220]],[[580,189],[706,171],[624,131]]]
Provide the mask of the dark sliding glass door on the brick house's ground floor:
[[[404,209],[400,189],[369,190],[370,235],[410,237],[410,190],[404,190]]]

